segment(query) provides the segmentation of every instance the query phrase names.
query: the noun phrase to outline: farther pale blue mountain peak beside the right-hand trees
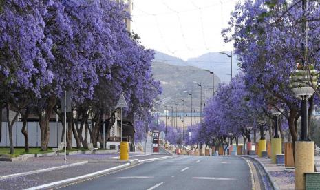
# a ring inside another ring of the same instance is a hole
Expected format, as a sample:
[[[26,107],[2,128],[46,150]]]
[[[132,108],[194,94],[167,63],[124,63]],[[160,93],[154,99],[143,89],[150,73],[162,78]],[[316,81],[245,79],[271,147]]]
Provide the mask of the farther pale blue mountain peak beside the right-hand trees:
[[[226,52],[231,54],[231,52]],[[239,73],[239,66],[237,56],[233,55],[233,76]],[[215,74],[221,79],[222,82],[229,82],[231,79],[231,58],[226,54],[220,54],[219,52],[211,52],[203,54],[196,58],[191,58],[186,61],[188,65],[199,67],[204,70],[214,70]]]

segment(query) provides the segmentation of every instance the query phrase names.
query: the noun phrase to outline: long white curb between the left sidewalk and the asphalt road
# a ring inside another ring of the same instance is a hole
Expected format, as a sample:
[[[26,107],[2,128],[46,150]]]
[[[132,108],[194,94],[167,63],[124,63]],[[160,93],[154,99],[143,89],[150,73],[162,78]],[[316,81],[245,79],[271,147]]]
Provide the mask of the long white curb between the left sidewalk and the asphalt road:
[[[120,169],[125,169],[127,167],[132,167],[134,165],[138,165],[139,163],[153,162],[153,161],[156,161],[156,160],[164,160],[164,159],[173,158],[173,157],[174,156],[164,156],[164,157],[160,157],[160,158],[150,158],[150,159],[145,159],[145,160],[138,160],[138,159],[128,160],[128,161],[126,161],[127,163],[125,163],[123,165],[118,165],[116,167],[111,167],[111,168],[104,169],[104,170],[101,170],[101,171],[96,171],[94,173],[88,173],[88,174],[85,174],[83,176],[78,176],[78,177],[74,177],[74,178],[68,178],[68,179],[65,179],[65,180],[60,180],[60,181],[57,181],[57,182],[51,182],[51,183],[48,183],[48,184],[42,184],[42,185],[39,185],[39,186],[36,186],[36,187],[30,187],[27,190],[49,189],[49,188],[54,188],[54,187],[61,187],[63,184],[70,184],[72,182],[78,182],[78,181],[81,181],[81,180],[85,180],[87,178],[94,178],[96,176],[100,176],[100,175],[103,175],[105,173],[110,173],[110,172],[113,172],[113,171],[118,171]]]

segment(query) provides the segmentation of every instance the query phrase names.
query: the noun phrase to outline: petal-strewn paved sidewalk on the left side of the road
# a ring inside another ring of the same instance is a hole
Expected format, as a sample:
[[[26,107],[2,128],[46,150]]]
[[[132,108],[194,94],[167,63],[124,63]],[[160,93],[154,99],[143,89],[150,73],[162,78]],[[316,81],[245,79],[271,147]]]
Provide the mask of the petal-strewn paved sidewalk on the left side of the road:
[[[130,160],[134,163],[150,159],[164,158],[169,155],[152,154],[131,154]],[[27,189],[43,184],[84,176],[88,173],[112,169],[123,165],[129,167],[131,163],[118,160],[118,154],[85,154],[67,156],[67,164],[81,162],[81,165],[75,165],[65,168],[58,168],[52,171],[43,171],[40,173],[29,174],[0,179],[0,189]],[[14,173],[34,171],[38,169],[47,169],[51,167],[61,167],[64,165],[63,156],[46,156],[39,158],[29,158],[21,162],[0,162],[0,178]]]

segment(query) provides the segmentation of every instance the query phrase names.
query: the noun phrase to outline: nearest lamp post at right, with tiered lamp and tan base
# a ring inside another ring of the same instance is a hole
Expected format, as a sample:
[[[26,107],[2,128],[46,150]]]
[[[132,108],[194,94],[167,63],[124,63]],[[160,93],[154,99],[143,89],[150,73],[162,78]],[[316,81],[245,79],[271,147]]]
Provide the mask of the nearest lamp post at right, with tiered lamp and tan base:
[[[300,67],[292,72],[290,85],[292,92],[301,100],[301,136],[295,142],[295,189],[305,189],[305,173],[314,172],[314,142],[308,138],[308,98],[317,89],[317,70],[308,65],[308,1],[302,0],[302,60]]]

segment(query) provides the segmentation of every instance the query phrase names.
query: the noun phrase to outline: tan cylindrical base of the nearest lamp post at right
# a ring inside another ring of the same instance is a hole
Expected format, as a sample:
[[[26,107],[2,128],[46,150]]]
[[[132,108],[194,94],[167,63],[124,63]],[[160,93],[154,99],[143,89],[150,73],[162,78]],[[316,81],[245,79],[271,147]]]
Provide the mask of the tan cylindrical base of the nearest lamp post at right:
[[[312,172],[314,172],[314,142],[295,142],[295,189],[306,189],[304,173]]]

